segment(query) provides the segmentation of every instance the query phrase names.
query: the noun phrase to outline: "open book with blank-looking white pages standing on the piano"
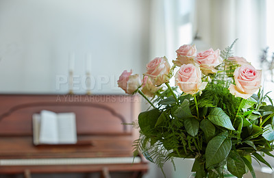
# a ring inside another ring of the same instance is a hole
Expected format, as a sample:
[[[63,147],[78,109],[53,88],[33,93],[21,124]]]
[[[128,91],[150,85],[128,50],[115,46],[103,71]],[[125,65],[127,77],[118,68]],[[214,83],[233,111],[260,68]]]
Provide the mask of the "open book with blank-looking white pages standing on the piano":
[[[34,144],[75,144],[77,142],[75,113],[42,110],[33,114]]]

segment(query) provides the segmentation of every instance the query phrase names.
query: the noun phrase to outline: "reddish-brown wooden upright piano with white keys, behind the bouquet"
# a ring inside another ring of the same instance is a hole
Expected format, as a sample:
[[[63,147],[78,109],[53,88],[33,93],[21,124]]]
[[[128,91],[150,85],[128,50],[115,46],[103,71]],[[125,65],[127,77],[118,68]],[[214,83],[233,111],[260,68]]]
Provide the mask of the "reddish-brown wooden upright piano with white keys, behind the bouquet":
[[[130,172],[142,177],[148,164],[133,162],[132,125],[140,110],[139,97],[123,95],[0,94],[0,175],[34,173]],[[41,110],[74,112],[76,144],[35,146],[32,114]]]

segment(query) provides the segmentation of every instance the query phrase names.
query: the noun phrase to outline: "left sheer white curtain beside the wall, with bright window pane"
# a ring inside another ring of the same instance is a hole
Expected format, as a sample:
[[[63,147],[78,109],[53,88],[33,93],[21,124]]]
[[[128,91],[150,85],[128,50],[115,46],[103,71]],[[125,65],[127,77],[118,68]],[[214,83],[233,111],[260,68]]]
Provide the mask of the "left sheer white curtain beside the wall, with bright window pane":
[[[151,0],[150,60],[165,55],[171,62],[179,46],[192,42],[194,5],[192,0]]]

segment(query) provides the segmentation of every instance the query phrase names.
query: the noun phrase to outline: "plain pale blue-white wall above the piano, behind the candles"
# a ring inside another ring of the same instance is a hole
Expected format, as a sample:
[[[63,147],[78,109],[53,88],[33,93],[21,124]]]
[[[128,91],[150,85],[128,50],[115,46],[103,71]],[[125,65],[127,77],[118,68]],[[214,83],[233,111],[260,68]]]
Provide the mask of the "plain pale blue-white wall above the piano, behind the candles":
[[[86,92],[86,53],[92,93],[123,93],[123,70],[142,74],[149,61],[147,16],[146,0],[1,0],[0,92],[68,92],[59,81],[74,52],[75,93]]]

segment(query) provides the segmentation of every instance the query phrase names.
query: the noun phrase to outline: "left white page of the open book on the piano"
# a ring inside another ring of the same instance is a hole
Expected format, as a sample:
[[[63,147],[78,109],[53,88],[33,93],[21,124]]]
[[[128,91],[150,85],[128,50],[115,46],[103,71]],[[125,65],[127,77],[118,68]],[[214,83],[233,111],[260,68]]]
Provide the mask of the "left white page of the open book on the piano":
[[[40,143],[58,144],[58,122],[56,114],[42,110],[40,116]]]

